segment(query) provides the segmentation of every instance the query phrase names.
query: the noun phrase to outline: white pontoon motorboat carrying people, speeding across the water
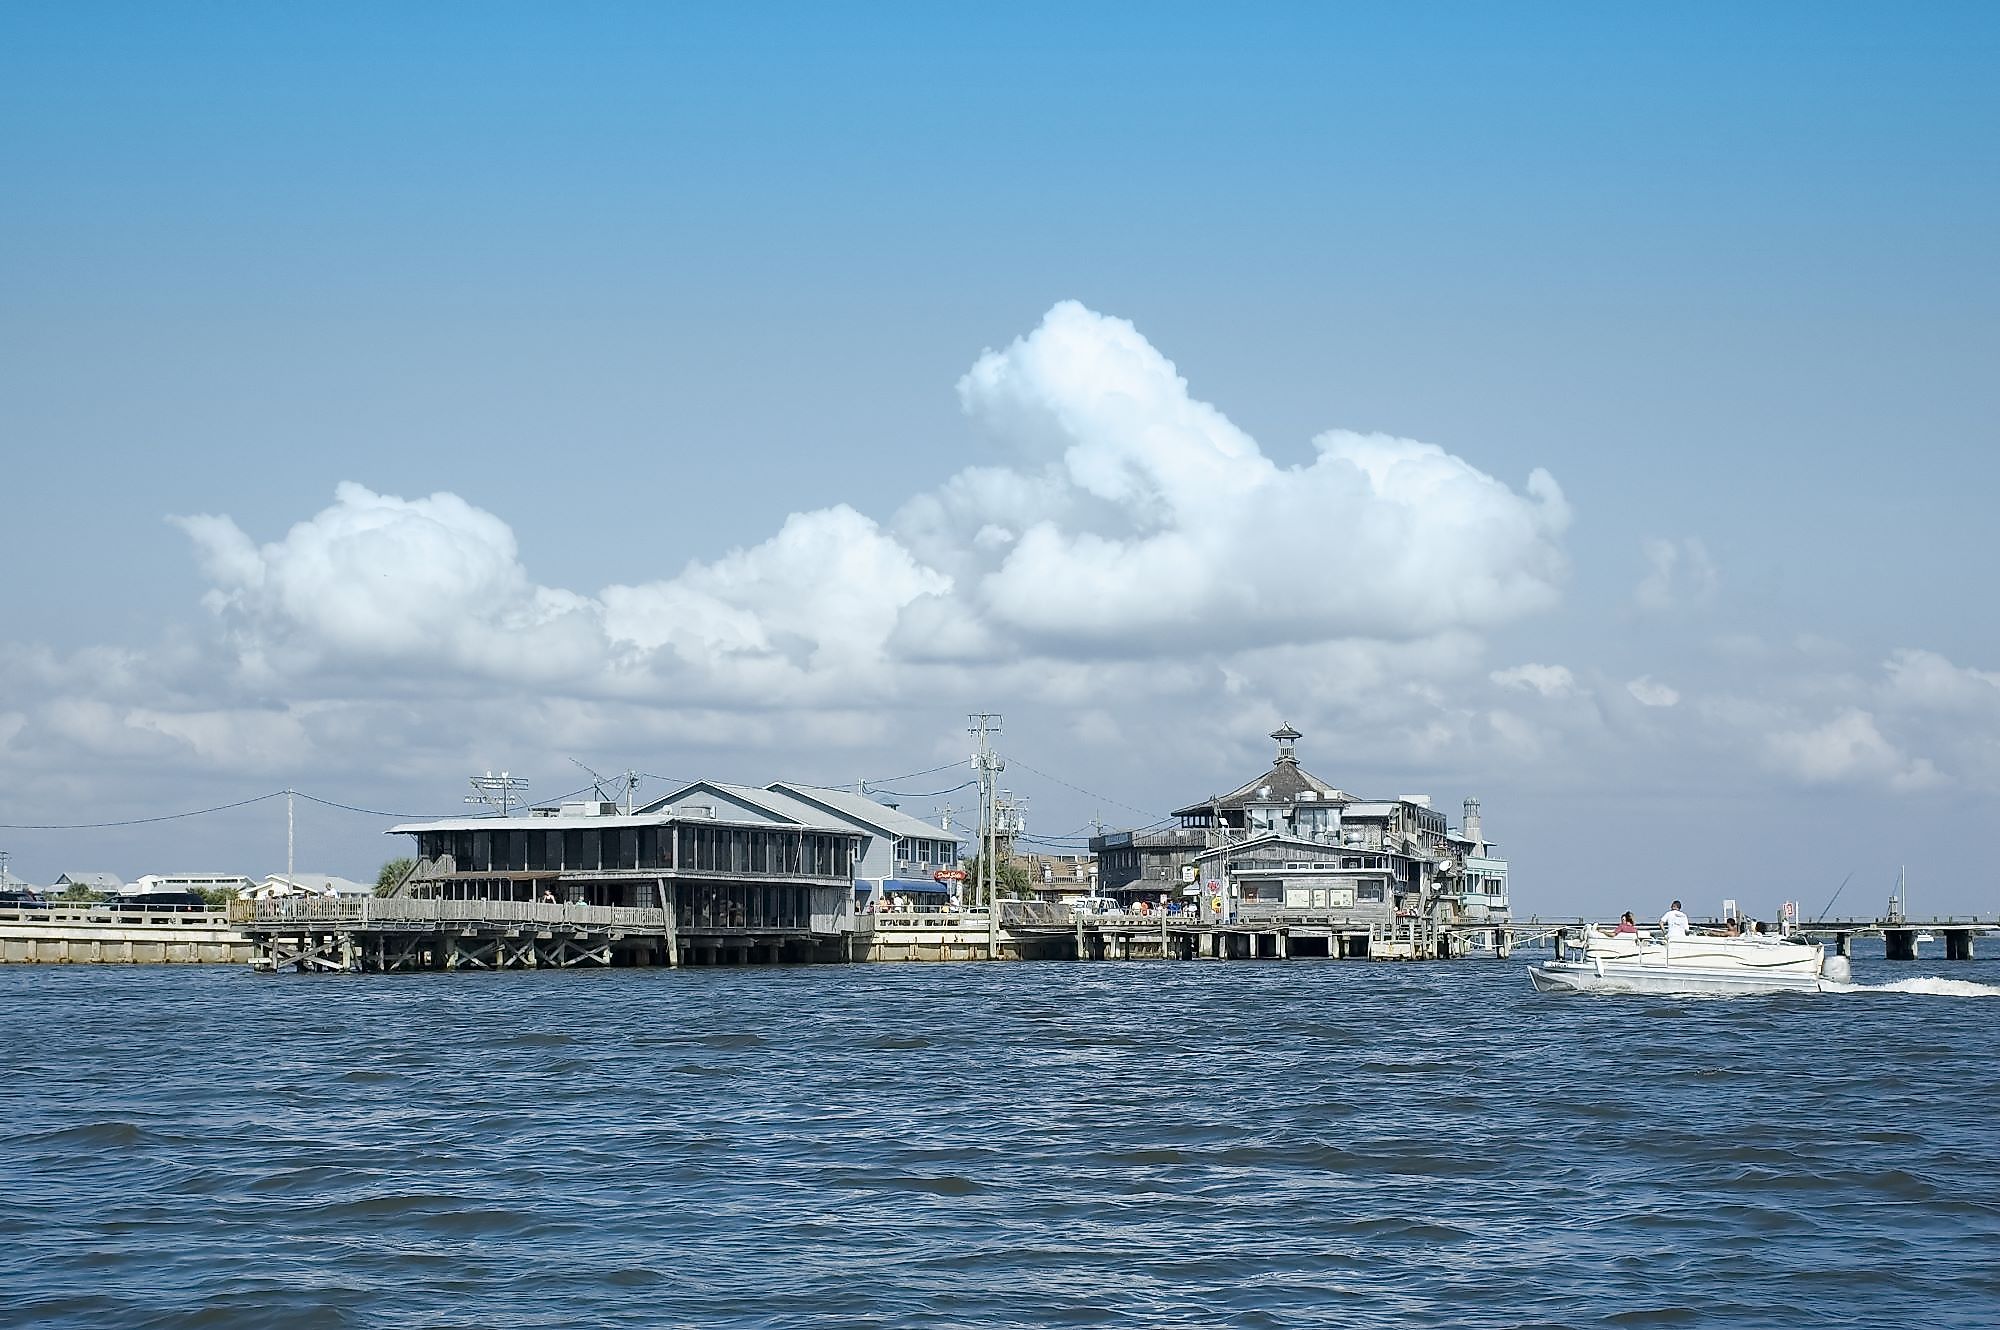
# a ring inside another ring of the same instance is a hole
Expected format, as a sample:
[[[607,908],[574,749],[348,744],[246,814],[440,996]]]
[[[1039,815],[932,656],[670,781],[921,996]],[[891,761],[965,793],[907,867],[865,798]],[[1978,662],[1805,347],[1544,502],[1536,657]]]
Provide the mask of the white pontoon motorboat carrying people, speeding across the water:
[[[1844,956],[1782,936],[1612,932],[1556,934],[1556,958],[1528,966],[1538,992],[1820,992],[1848,980]]]

